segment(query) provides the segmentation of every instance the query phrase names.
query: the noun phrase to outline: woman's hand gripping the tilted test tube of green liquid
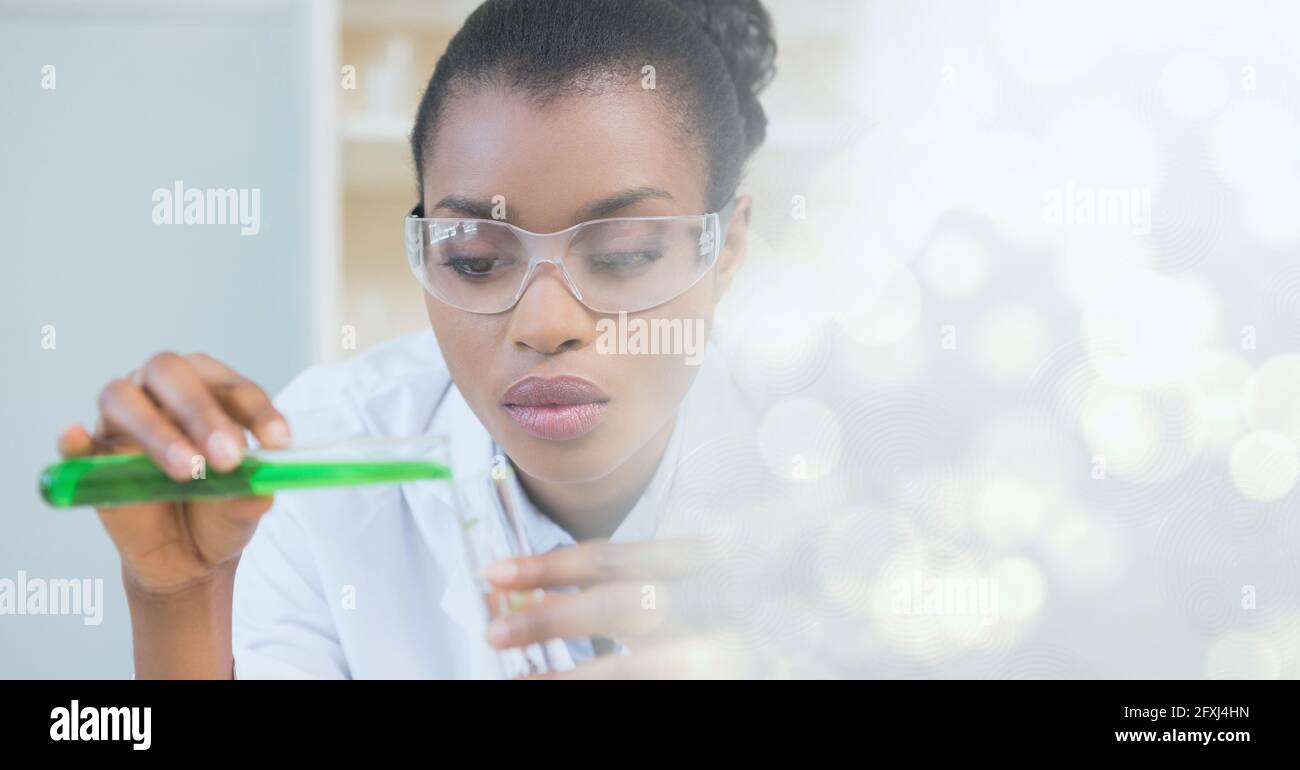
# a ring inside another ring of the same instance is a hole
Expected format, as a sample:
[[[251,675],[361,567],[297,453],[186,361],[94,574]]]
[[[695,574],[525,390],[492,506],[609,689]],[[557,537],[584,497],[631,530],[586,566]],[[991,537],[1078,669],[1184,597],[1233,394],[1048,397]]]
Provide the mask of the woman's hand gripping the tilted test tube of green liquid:
[[[144,451],[172,479],[190,481],[199,463],[213,471],[238,466],[244,428],[263,446],[289,446],[289,423],[256,384],[202,352],[160,352],[105,385],[95,433],[70,425],[58,451]],[[96,510],[122,558],[126,588],[161,597],[208,581],[238,559],[270,503],[247,497]],[[228,572],[233,579],[233,568]]]

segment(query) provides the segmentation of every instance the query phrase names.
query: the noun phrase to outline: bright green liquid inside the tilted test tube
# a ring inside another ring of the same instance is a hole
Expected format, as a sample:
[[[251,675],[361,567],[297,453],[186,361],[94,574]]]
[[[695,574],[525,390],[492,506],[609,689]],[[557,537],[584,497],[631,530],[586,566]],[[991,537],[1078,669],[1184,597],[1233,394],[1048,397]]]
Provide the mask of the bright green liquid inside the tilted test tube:
[[[114,506],[133,502],[254,497],[289,489],[396,484],[450,479],[434,460],[270,462],[246,457],[229,473],[173,481],[143,454],[72,458],[40,475],[40,496],[52,506]]]

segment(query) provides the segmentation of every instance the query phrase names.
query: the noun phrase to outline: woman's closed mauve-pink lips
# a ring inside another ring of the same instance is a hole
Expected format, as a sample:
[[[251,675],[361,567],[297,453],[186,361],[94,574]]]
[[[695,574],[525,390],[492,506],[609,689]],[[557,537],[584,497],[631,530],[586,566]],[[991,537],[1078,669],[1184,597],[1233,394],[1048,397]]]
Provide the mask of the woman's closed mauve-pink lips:
[[[500,405],[530,436],[568,441],[595,429],[610,397],[581,377],[525,377],[506,390]]]

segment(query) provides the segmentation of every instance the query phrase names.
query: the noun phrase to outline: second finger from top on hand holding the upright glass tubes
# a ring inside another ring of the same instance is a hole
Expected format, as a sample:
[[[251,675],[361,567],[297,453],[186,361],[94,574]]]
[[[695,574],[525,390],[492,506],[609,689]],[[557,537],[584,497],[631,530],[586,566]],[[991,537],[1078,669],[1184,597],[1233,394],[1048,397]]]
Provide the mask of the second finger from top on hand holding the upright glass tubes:
[[[646,597],[653,597],[647,602]],[[610,636],[644,637],[668,618],[663,585],[602,583],[575,593],[549,593],[524,610],[508,613],[488,624],[488,644],[497,649],[524,646],[550,639]]]

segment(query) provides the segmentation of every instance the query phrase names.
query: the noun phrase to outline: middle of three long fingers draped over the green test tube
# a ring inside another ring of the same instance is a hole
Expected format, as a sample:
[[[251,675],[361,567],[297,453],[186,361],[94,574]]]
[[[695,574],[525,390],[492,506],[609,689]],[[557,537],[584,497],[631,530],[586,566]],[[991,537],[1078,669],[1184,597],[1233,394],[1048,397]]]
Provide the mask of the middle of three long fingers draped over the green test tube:
[[[231,471],[243,458],[243,431],[226,415],[208,385],[174,352],[160,352],[144,365],[144,388],[176,415],[195,445],[207,450],[217,471]]]

